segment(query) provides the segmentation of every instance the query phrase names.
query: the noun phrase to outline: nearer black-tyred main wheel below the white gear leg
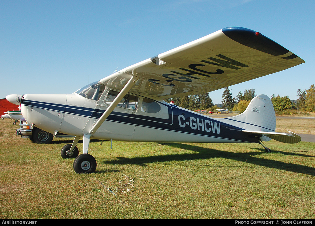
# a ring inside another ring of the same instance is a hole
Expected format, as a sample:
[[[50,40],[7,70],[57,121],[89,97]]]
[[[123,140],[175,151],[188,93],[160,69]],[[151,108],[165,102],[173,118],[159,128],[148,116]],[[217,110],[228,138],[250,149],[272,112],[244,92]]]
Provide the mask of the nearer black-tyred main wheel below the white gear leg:
[[[74,160],[73,169],[77,174],[94,173],[96,169],[96,160],[90,154],[81,154]]]

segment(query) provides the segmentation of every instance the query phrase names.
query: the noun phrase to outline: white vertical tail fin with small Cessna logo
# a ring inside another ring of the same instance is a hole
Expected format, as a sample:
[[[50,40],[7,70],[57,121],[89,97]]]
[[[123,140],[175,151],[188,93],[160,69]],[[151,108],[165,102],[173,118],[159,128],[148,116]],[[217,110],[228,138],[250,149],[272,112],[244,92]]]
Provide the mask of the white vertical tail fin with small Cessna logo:
[[[244,130],[276,131],[276,114],[267,95],[254,97],[243,113],[226,119],[229,124]]]

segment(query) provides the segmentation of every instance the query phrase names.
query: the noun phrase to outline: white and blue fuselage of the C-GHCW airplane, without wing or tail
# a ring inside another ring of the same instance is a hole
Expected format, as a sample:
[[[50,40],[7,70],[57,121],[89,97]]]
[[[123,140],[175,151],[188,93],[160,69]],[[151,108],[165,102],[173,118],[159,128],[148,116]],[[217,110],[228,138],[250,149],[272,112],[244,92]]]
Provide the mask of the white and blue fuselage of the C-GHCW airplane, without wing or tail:
[[[29,123],[50,133],[80,136],[89,130],[109,106],[109,89],[100,99],[92,100],[74,94],[27,94],[21,102],[21,112]],[[107,96],[106,96],[107,95]],[[129,94],[128,94],[129,95]],[[154,142],[258,143],[255,136],[224,119],[208,116],[130,94],[134,105],[117,106],[92,135],[93,139]],[[129,96],[130,96],[129,95]],[[107,98],[107,99],[106,99]],[[149,104],[147,103],[149,102]],[[144,110],[144,106],[146,109]],[[150,108],[151,107],[151,108]]]

